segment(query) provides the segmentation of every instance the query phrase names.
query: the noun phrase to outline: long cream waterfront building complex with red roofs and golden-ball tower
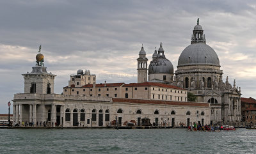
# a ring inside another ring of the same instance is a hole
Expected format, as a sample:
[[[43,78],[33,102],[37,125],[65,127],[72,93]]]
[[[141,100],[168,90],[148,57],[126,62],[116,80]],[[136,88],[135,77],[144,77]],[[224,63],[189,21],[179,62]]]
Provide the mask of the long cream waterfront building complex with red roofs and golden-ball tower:
[[[53,127],[55,123],[63,127],[107,127],[128,122],[141,125],[143,118],[149,118],[156,125],[172,127],[210,123],[209,104],[184,101],[186,89],[172,85],[151,82],[95,84],[94,75],[88,73],[86,76],[79,70],[80,78],[70,75],[70,87],[63,88],[67,95],[54,94],[56,75],[47,72],[44,56],[38,55],[32,72],[22,74],[24,93],[14,95],[13,124],[22,125],[27,121]],[[112,98],[115,93],[116,98]]]

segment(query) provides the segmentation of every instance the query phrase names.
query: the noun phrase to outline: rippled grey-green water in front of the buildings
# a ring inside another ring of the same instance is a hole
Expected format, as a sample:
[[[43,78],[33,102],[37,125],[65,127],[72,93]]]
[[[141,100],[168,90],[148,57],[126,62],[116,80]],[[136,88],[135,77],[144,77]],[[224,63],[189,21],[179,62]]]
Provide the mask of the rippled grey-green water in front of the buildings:
[[[256,153],[256,130],[0,129],[0,153]]]

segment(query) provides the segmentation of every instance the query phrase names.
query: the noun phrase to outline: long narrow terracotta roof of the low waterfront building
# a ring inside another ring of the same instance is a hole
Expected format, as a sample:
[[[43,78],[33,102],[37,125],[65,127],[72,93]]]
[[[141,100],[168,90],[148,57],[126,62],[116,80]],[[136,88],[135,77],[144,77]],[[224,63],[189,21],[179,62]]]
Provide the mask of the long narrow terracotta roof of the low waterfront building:
[[[209,107],[208,103],[196,103],[196,102],[173,102],[164,100],[141,100],[141,99],[129,99],[129,98],[112,98],[113,102],[127,102],[138,104],[164,104],[164,105],[189,105],[189,106],[202,106]]]

